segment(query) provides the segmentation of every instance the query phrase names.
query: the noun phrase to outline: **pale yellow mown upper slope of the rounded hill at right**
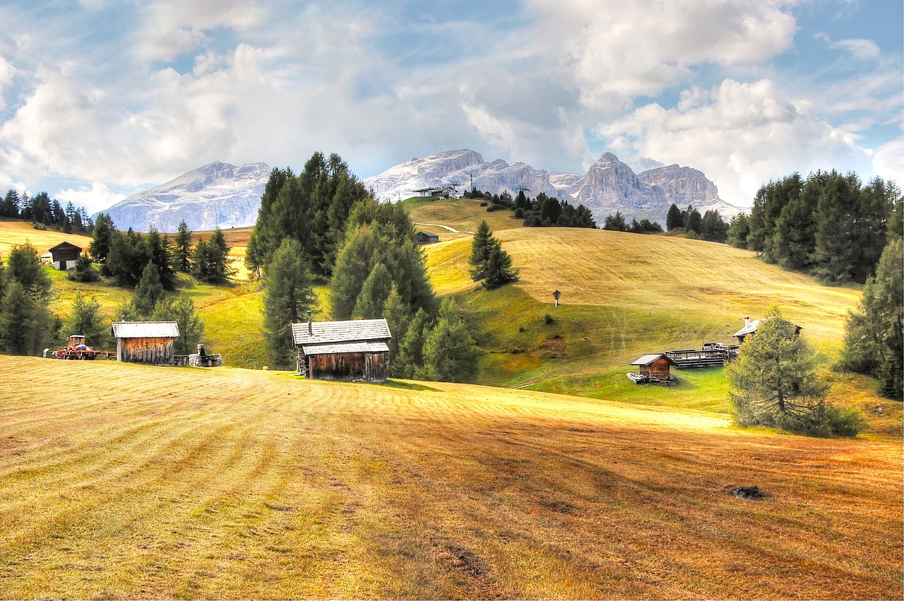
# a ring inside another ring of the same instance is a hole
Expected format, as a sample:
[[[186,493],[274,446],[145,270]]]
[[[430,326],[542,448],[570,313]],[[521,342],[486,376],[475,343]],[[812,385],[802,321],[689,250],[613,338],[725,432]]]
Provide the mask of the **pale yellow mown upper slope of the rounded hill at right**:
[[[719,315],[733,333],[741,317],[758,317],[778,303],[808,336],[840,341],[844,316],[861,296],[767,265],[748,250],[702,240],[563,228],[501,230],[496,238],[521,270],[515,286],[546,304],[559,289],[563,305],[702,312]],[[455,240],[425,248],[440,294],[475,286],[467,277],[468,245]]]

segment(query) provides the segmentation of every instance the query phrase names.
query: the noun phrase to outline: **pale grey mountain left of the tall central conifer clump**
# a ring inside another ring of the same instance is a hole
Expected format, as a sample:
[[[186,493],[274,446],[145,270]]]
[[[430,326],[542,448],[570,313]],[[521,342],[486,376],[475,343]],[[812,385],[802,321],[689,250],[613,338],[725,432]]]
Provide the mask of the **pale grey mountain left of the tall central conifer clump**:
[[[185,221],[189,230],[254,225],[260,196],[270,175],[266,163],[211,163],[171,182],[132,194],[105,211],[119,230],[173,232]]]

